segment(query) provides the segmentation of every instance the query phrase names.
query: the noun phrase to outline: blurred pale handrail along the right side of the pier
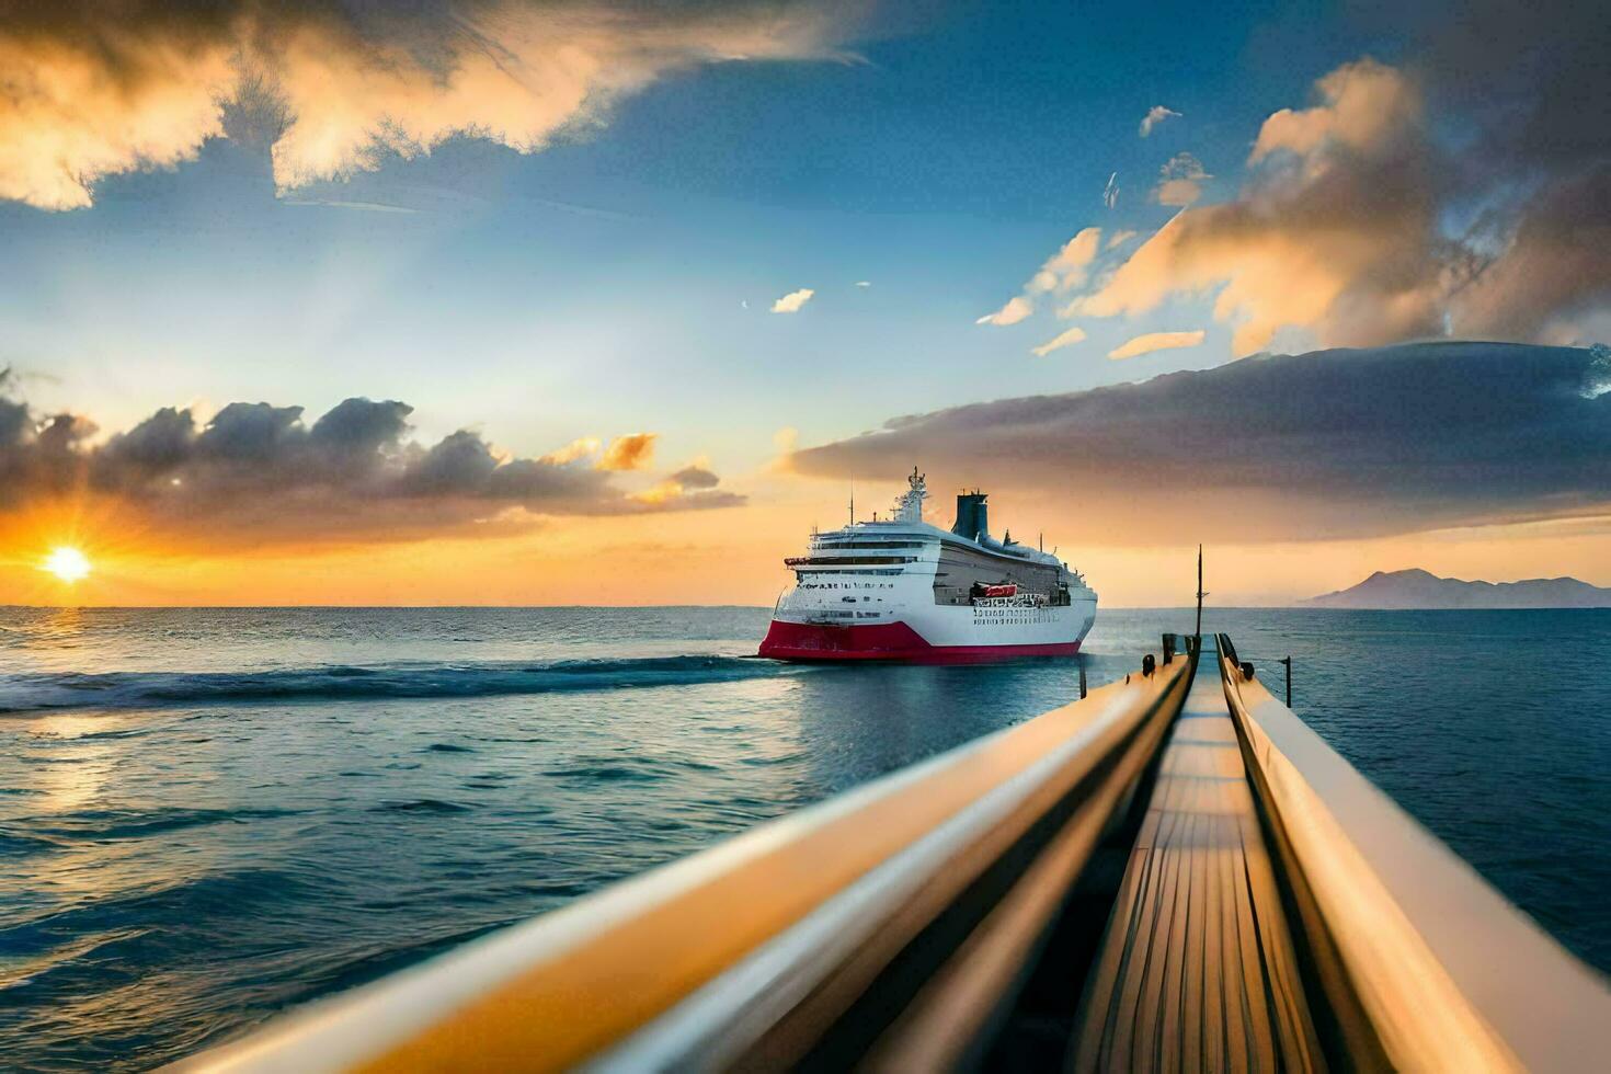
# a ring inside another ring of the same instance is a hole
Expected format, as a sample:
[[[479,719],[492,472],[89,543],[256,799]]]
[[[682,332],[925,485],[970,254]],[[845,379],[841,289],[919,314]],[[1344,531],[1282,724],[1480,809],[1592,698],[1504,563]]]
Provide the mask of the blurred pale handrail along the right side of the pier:
[[[1255,797],[1352,1066],[1576,1071],[1611,989],[1377,791],[1221,646]]]

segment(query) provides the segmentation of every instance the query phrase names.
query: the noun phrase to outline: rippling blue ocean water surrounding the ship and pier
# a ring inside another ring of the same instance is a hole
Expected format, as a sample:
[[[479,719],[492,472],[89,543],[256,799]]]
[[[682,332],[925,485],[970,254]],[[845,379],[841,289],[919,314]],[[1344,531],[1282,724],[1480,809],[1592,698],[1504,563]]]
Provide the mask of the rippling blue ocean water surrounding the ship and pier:
[[[789,667],[764,609],[0,609],[0,1066],[145,1069],[1134,670]],[[1611,612],[1210,610],[1611,969]]]

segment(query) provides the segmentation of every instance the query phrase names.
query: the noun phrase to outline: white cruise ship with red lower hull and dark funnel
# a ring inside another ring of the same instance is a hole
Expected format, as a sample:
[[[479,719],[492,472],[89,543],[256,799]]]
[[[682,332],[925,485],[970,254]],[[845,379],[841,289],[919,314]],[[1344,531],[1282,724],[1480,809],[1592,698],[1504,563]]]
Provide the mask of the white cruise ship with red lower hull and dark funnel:
[[[1079,652],[1097,594],[1057,556],[989,533],[986,494],[957,496],[950,530],[923,522],[912,470],[891,517],[814,533],[772,613],[775,660],[975,662]]]

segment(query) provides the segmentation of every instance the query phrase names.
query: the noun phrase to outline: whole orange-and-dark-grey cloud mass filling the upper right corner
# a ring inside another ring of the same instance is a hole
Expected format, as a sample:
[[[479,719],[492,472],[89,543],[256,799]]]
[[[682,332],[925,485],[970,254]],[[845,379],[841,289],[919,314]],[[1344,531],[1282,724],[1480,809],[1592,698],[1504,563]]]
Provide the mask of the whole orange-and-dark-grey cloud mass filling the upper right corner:
[[[1237,356],[1284,330],[1289,346],[1597,338],[1611,129],[1582,101],[1611,93],[1603,11],[1479,0],[1455,23],[1416,5],[1377,14],[1408,34],[1402,66],[1342,64],[1311,106],[1268,116],[1231,201],[1203,206],[1194,177],[1165,176],[1155,200],[1191,208],[1066,312],[1211,295]]]

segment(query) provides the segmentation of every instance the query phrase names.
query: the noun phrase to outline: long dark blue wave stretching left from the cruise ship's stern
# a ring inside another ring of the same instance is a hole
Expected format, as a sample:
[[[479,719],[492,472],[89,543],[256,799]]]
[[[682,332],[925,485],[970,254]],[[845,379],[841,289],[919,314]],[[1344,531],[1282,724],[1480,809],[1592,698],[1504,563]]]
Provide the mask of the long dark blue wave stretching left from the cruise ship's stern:
[[[0,675],[0,712],[169,708],[267,700],[490,697],[686,686],[793,675],[807,668],[731,655],[553,660],[546,663],[324,665],[264,671]]]

